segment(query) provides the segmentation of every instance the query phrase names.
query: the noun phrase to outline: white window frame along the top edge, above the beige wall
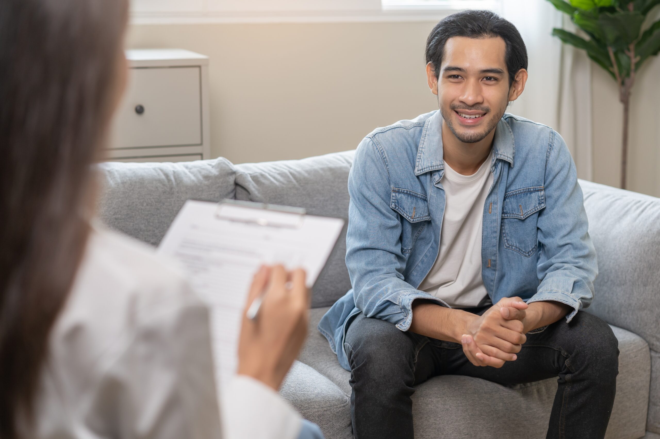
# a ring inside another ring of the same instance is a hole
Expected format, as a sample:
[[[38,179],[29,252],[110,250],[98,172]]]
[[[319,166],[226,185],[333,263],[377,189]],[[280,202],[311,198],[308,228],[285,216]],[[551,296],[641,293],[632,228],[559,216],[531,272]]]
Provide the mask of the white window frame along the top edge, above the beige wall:
[[[530,0],[531,1],[531,0]],[[131,23],[435,21],[502,0],[131,0]]]

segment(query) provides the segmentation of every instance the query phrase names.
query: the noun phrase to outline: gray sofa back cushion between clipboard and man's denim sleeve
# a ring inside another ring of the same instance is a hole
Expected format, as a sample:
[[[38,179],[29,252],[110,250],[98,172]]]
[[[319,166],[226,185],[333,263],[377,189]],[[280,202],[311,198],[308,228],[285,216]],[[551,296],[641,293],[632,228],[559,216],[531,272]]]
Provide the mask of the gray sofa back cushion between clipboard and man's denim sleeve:
[[[348,218],[348,171],[354,151],[303,160],[236,165],[236,199],[302,207],[310,215]],[[312,307],[332,305],[350,289],[346,228],[319,275]]]

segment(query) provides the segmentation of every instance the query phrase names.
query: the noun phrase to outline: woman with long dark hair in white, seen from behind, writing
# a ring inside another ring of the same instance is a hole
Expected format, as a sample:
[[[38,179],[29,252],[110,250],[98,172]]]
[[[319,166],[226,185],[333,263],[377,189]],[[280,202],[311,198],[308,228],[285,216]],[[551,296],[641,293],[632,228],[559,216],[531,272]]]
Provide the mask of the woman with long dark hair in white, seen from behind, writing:
[[[0,1],[0,438],[295,438],[275,391],[305,336],[304,272],[255,276],[220,421],[207,308],[93,220],[126,21],[126,0]]]

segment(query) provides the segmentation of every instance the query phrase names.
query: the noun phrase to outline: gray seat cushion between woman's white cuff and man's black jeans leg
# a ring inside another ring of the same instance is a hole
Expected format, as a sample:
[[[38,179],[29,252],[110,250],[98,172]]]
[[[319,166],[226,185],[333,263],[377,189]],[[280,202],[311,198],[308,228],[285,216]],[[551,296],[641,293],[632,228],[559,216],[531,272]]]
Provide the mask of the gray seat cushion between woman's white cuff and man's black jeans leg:
[[[348,396],[310,366],[296,361],[284,378],[280,395],[302,417],[317,424],[325,438],[352,439]]]

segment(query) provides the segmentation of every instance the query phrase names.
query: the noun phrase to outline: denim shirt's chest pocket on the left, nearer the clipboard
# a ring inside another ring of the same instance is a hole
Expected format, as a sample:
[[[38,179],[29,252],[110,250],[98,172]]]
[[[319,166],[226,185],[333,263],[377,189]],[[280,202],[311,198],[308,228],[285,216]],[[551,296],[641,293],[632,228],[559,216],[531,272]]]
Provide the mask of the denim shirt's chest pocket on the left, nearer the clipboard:
[[[426,195],[393,187],[390,207],[401,217],[401,251],[410,253],[431,220]]]

